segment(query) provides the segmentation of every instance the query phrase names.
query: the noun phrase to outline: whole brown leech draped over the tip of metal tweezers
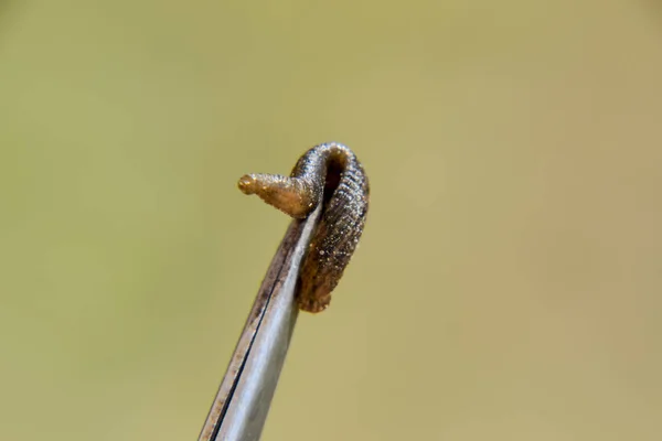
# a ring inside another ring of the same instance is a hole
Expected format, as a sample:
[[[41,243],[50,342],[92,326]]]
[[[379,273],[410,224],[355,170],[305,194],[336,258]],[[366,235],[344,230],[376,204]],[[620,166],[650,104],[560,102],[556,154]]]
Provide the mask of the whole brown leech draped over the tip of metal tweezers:
[[[247,174],[238,186],[295,218],[306,218],[324,204],[301,265],[297,301],[303,311],[327,309],[367,214],[370,186],[354,153],[340,143],[319,144],[299,159],[289,178]]]

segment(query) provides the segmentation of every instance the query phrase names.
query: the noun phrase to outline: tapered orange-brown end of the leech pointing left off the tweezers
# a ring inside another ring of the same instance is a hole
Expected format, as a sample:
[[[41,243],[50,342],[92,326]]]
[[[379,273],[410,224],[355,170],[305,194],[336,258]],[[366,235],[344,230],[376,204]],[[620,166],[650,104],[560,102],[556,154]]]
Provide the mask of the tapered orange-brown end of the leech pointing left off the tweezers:
[[[246,174],[237,185],[244,194],[257,194],[267,204],[296,218],[308,216],[320,200],[305,180],[279,174]]]

